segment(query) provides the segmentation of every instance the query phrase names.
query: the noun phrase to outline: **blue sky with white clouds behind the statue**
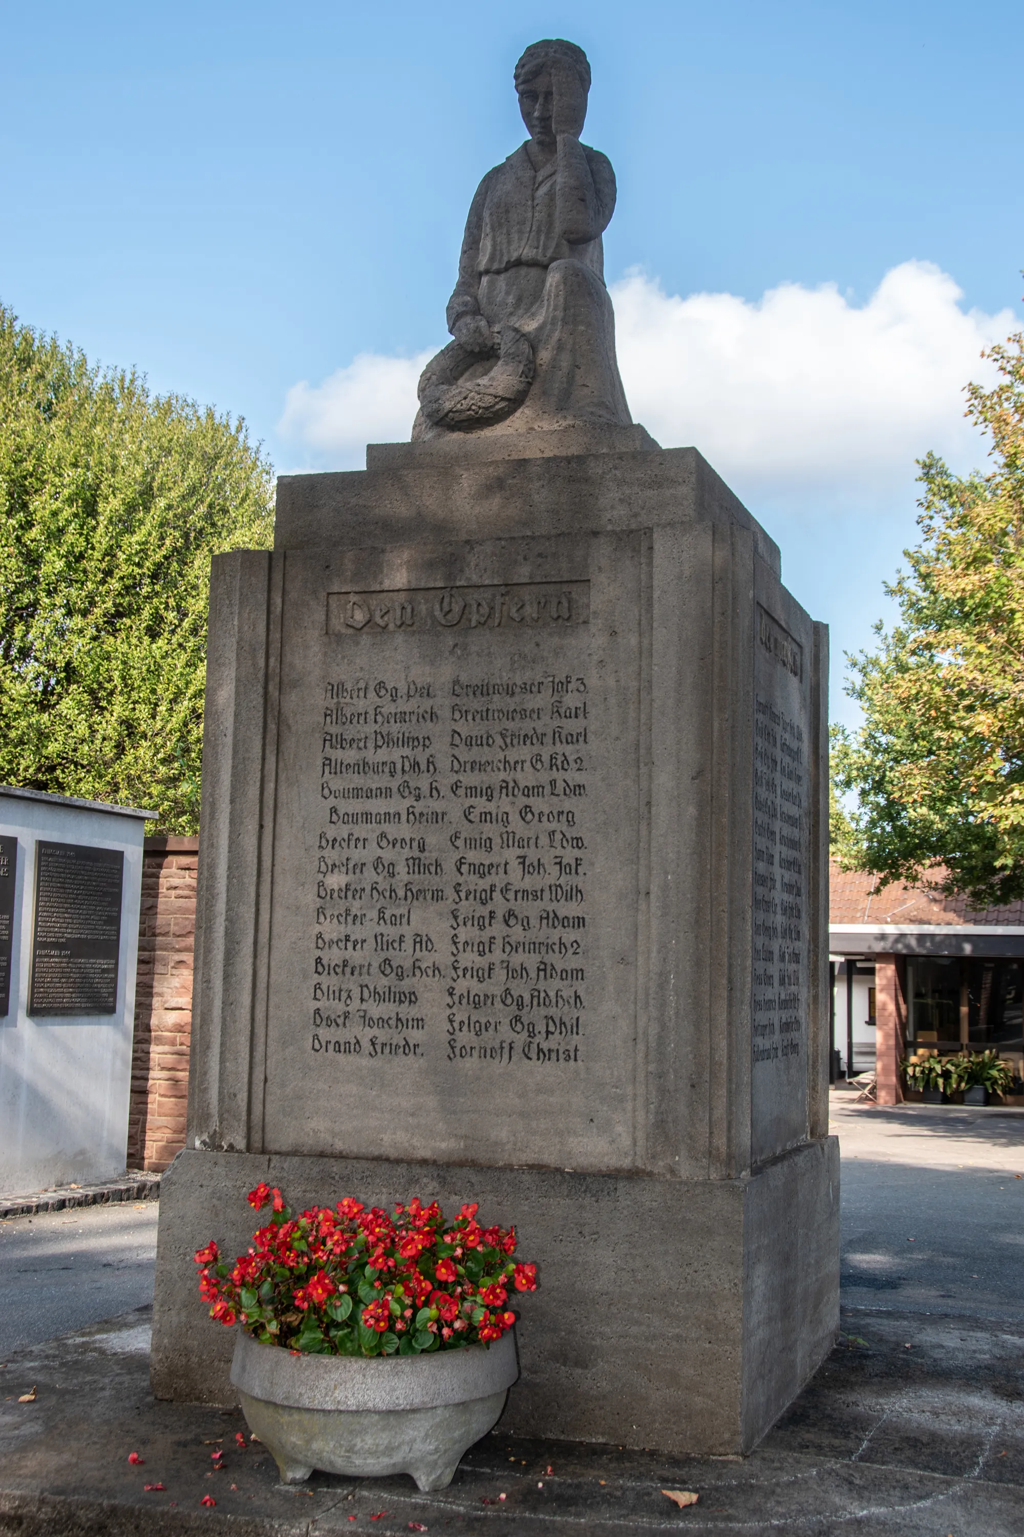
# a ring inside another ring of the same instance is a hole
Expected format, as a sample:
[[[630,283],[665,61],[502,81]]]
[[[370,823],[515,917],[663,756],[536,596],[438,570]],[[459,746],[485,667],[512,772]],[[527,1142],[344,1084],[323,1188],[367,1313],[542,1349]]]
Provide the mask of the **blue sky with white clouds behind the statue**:
[[[511,69],[543,35],[594,71],[634,413],[726,473],[837,652],[887,613],[913,456],[983,460],[958,389],[1021,314],[1019,3],[20,0],[0,22],[0,300],[244,415],[279,469],[356,463],[352,392],[318,392],[359,355],[407,432],[413,364],[382,360],[445,340],[468,201],[522,138]]]

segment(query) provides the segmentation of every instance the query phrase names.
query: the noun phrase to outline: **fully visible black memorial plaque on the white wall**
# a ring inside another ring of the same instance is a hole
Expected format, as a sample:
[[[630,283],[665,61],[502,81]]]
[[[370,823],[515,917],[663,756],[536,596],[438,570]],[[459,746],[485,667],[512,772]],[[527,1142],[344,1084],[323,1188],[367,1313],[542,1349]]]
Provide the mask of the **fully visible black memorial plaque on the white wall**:
[[[35,844],[29,1014],[112,1014],[121,944],[118,848]]]

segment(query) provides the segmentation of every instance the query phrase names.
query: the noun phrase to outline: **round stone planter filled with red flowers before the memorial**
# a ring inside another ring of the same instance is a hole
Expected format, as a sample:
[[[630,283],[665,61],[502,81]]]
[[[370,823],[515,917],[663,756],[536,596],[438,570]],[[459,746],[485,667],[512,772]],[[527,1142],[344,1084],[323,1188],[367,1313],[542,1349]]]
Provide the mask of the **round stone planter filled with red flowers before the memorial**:
[[[388,1216],[345,1197],[293,1216],[279,1190],[247,1254],[198,1250],[200,1293],[235,1340],[232,1382],[286,1483],[313,1468],[408,1472],[442,1489],[497,1422],[519,1376],[510,1293],[536,1291],[514,1228],[476,1205],[445,1222],[413,1199]]]

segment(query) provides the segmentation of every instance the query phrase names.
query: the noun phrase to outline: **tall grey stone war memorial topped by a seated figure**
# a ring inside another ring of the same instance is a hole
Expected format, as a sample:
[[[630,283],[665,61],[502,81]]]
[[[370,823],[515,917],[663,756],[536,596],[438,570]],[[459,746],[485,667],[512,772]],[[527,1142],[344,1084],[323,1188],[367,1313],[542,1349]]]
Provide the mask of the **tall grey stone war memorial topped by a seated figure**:
[[[504,1434],[745,1452],[838,1319],[827,635],[631,421],[583,52],[516,89],[411,441],[213,561],[154,1389],[235,1402],[192,1254],[259,1180],[476,1200],[540,1270]]]

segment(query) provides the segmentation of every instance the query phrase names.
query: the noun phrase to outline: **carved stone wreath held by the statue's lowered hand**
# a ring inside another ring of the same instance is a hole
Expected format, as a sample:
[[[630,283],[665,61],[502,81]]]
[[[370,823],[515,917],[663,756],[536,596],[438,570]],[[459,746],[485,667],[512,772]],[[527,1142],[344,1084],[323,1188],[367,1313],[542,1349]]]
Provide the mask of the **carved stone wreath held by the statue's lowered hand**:
[[[474,363],[497,355],[497,363],[481,378],[462,380]],[[419,404],[424,417],[450,432],[487,427],[504,421],[522,406],[533,383],[533,347],[514,326],[496,326],[491,347],[471,352],[461,341],[450,341],[419,375]]]

